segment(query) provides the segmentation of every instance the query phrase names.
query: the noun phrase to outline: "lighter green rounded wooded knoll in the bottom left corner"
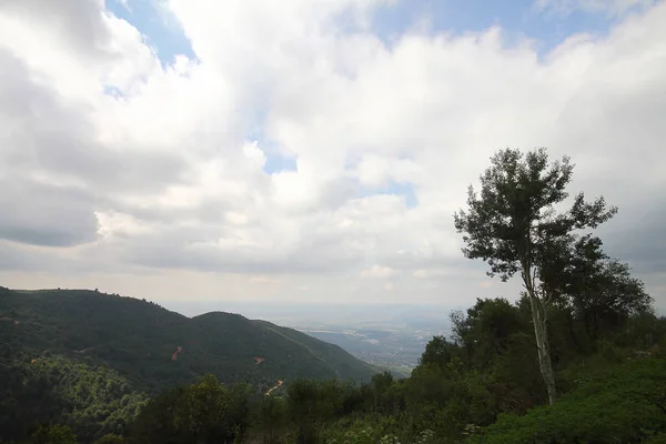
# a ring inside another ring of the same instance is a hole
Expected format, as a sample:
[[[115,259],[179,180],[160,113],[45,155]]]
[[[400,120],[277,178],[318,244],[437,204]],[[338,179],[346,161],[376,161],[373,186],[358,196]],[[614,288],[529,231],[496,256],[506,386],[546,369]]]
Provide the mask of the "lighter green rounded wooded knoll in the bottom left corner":
[[[85,441],[122,434],[148,402],[117,372],[62,356],[16,360],[11,369],[0,404],[6,438],[26,436],[36,423],[67,424]]]

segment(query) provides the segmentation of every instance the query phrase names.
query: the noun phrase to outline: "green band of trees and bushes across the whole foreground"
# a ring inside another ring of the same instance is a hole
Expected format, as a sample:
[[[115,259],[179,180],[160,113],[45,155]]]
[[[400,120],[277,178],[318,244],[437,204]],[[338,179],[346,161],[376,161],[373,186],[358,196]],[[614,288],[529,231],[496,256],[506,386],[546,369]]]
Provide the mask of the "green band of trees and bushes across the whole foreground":
[[[571,333],[561,335],[569,330],[566,312],[554,316],[562,395],[549,406],[524,304],[480,300],[454,314],[453,337],[434,337],[408,379],[383,373],[362,385],[300,380],[271,396],[205,375],[148,401],[113,372],[43,357],[30,364],[36,370],[23,394],[4,397],[13,400],[4,414],[17,414],[3,432],[23,427],[22,436],[7,434],[4,442],[663,442],[664,317],[649,311],[627,315],[598,329],[593,340],[574,316],[574,332],[589,345],[581,351],[571,346]]]

